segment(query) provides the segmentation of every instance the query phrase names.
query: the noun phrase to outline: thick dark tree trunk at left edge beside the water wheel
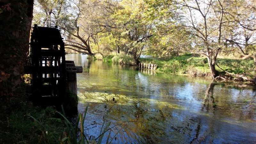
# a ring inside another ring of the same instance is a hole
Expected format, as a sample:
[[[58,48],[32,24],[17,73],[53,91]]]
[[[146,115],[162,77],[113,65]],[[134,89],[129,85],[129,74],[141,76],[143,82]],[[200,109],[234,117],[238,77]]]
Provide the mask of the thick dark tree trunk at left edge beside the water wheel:
[[[13,95],[27,60],[33,0],[2,0],[0,7],[0,96]]]

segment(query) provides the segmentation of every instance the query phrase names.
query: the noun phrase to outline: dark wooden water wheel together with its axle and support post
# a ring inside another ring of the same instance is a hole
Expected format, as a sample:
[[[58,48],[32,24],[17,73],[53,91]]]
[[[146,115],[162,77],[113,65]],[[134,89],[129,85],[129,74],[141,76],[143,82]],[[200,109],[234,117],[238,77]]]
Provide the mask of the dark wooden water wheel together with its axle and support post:
[[[25,72],[31,74],[34,103],[63,104],[68,111],[76,111],[76,73],[82,73],[83,69],[76,67],[74,61],[66,61],[62,39],[57,26],[49,28],[35,25],[31,33],[29,62]]]

